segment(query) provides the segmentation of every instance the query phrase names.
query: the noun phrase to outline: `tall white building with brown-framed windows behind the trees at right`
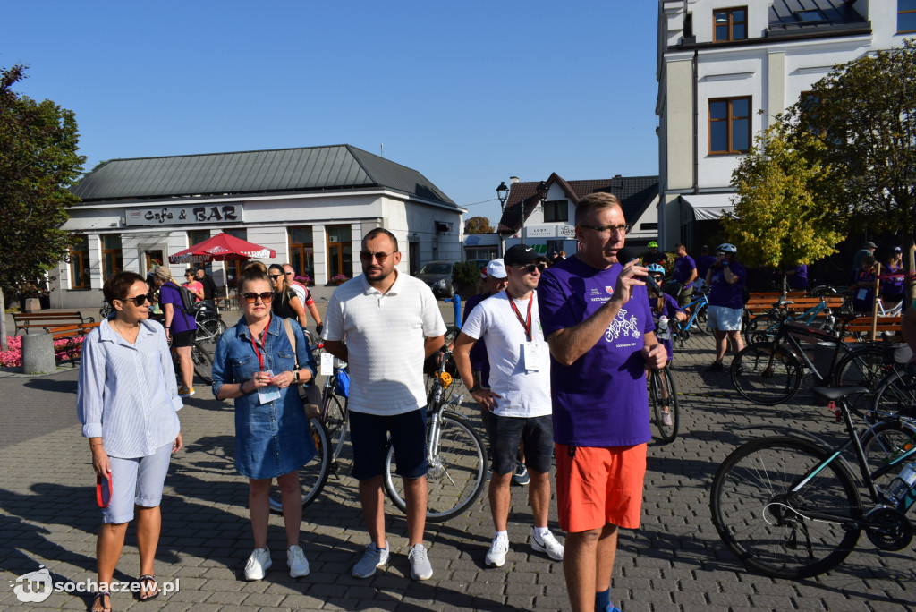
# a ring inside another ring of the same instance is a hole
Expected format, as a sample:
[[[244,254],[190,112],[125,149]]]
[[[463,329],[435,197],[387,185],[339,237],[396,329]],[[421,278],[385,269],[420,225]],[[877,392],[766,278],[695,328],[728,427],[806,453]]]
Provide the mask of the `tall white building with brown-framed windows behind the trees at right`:
[[[814,82],[914,35],[912,0],[661,0],[662,248],[710,243],[754,135]]]

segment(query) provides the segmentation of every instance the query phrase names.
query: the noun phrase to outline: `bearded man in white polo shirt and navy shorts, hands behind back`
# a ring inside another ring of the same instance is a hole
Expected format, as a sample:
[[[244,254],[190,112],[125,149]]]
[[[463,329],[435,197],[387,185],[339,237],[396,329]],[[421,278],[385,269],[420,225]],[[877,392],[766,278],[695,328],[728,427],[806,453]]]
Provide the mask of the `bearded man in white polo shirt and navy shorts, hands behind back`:
[[[359,258],[363,274],[334,291],[322,333],[324,349],[350,365],[353,475],[372,538],[353,575],[368,578],[388,560],[382,474],[390,434],[404,480],[410,574],[427,580],[423,361],[444,344],[445,322],[430,288],[395,268],[401,254],[391,232],[377,227],[366,234]]]

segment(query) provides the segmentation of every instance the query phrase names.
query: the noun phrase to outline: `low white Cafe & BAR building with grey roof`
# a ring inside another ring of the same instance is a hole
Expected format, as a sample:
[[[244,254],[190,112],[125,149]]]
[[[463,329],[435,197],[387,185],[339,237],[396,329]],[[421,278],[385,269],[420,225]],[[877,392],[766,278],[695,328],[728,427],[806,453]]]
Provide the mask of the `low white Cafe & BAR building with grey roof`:
[[[52,308],[97,306],[114,270],[145,275],[220,232],[276,250],[320,285],[360,273],[354,253],[375,227],[397,236],[404,272],[461,259],[466,211],[417,170],[350,145],[114,159],[73,192],[82,202],[63,228],[81,241],[60,264]],[[224,286],[222,266],[212,273]]]

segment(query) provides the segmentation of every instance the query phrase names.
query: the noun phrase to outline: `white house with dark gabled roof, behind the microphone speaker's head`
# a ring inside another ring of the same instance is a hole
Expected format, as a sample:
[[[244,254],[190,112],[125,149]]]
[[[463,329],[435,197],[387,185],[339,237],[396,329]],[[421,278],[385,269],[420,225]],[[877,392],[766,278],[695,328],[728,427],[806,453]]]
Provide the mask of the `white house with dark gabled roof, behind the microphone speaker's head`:
[[[622,177],[612,179],[565,180],[556,172],[540,182],[513,180],[503,216],[496,232],[505,240],[506,248],[518,243],[533,246],[541,255],[550,256],[561,250],[567,256],[578,250],[575,239],[575,207],[590,193],[613,193],[620,201],[627,223],[633,230],[627,235],[627,245],[646,246],[656,240],[655,220],[659,203],[659,177]],[[519,212],[524,208],[524,224]]]

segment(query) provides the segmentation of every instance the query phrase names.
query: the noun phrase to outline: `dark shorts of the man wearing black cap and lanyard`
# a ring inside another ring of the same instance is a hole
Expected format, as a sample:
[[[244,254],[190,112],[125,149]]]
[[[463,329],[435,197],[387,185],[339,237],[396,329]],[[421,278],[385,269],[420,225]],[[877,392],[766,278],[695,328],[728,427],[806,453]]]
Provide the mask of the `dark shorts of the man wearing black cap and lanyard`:
[[[549,474],[553,459],[553,418],[500,417],[492,421],[490,446],[493,451],[493,472],[508,474],[515,469],[518,443],[525,443],[525,465],[532,472]]]

